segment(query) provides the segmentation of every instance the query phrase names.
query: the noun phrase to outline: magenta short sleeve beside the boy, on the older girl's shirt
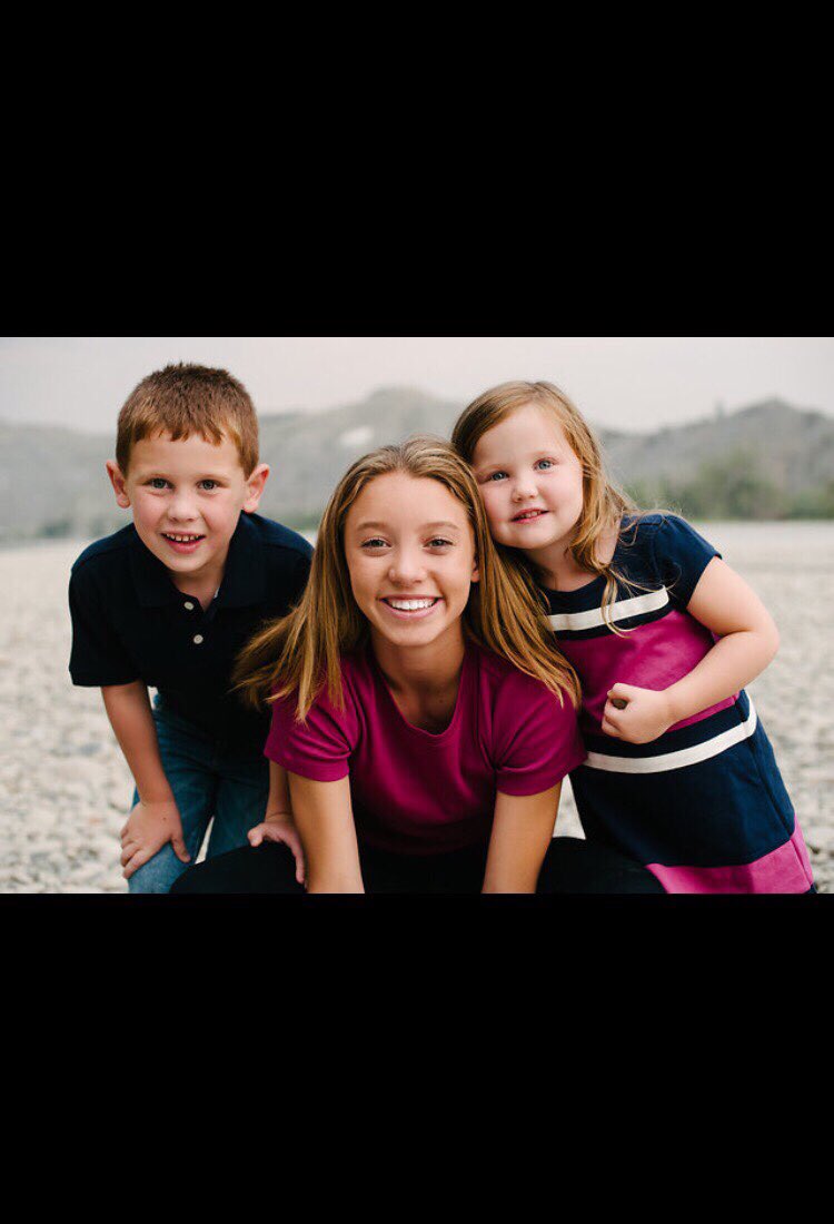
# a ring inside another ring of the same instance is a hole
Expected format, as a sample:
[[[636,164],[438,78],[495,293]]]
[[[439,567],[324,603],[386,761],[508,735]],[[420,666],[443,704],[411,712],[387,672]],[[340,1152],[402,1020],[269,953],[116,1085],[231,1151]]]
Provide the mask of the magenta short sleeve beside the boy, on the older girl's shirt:
[[[314,782],[336,782],[346,777],[356,743],[351,711],[336,710],[324,694],[313,703],[304,722],[296,721],[296,709],[295,695],[279,698],[273,704],[264,754],[291,774]]]

